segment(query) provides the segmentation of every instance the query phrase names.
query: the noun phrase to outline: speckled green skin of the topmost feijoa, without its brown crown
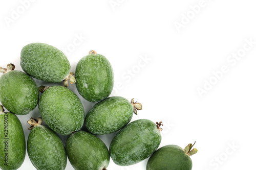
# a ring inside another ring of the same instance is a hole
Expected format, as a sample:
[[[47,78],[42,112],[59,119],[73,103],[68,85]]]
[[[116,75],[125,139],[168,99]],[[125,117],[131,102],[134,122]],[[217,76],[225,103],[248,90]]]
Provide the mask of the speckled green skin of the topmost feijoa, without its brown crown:
[[[70,63],[58,48],[45,43],[31,43],[22,48],[20,66],[30,76],[58,83],[70,72]]]

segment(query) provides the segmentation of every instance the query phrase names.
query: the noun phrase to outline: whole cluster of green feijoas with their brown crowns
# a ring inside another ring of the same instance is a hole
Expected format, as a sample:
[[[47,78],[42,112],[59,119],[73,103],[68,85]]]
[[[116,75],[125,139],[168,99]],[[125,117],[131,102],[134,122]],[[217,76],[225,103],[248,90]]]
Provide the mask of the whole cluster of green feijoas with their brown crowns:
[[[157,148],[161,142],[162,123],[138,119],[130,123],[133,113],[142,109],[140,103],[120,97],[109,97],[114,76],[110,62],[104,56],[90,51],[77,64],[75,74],[70,72],[67,57],[44,43],[31,43],[20,54],[23,71],[13,64],[0,67],[0,167],[17,169],[25,159],[26,143],[22,124],[15,114],[25,115],[38,104],[40,116],[28,123],[30,134],[27,152],[36,169],[65,169],[67,156],[74,169],[106,170],[110,157],[117,165],[127,166],[148,157],[146,169],[192,168],[190,155],[197,152],[188,144],[183,150],[177,145]],[[37,87],[31,77],[45,82],[64,81],[67,87],[75,83],[79,94],[89,102],[98,102],[84,118],[84,108],[78,96],[70,89],[56,86]],[[42,94],[39,98],[39,92]],[[5,112],[4,107],[10,111]],[[46,126],[41,125],[42,120]],[[89,132],[82,131],[85,124]],[[121,129],[121,130],[120,130]],[[109,150],[95,135],[120,130],[111,141]],[[66,148],[60,135],[69,135]],[[156,151],[157,150],[157,151]]]

